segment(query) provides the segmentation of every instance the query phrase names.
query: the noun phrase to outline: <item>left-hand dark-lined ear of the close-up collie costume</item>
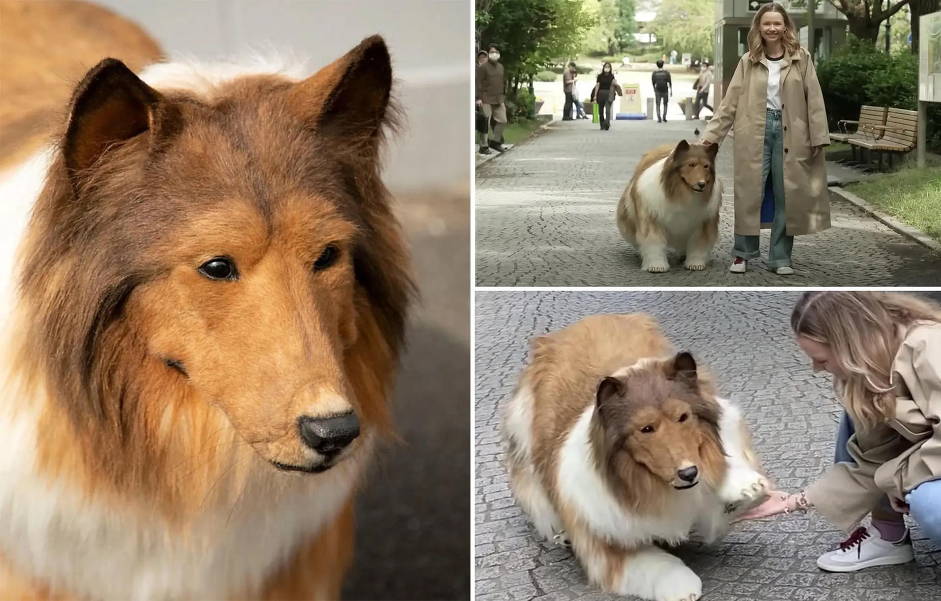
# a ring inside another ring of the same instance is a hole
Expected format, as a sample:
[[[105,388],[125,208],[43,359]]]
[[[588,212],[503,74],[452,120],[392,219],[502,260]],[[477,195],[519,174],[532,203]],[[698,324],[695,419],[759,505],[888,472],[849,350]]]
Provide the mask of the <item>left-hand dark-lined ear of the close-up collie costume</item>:
[[[71,175],[87,169],[109,147],[154,130],[163,97],[116,58],[91,68],[72,94],[62,151]]]

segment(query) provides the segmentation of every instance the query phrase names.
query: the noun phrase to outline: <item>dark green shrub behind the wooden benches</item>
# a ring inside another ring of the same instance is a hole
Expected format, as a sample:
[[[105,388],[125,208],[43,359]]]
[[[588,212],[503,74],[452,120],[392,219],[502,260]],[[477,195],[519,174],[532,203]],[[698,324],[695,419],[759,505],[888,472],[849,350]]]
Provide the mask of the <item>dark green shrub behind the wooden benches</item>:
[[[859,119],[863,104],[916,110],[918,58],[907,49],[886,54],[869,41],[849,36],[846,44],[821,60],[817,75],[831,131],[840,119]],[[941,149],[941,106],[928,108],[928,148]]]

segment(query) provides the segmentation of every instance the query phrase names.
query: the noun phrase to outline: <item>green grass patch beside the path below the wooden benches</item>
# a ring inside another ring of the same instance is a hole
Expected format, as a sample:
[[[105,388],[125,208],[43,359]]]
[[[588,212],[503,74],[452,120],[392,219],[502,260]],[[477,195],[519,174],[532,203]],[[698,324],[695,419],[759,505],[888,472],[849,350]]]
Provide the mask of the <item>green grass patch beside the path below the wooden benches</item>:
[[[846,189],[886,214],[941,240],[941,166],[904,168]]]

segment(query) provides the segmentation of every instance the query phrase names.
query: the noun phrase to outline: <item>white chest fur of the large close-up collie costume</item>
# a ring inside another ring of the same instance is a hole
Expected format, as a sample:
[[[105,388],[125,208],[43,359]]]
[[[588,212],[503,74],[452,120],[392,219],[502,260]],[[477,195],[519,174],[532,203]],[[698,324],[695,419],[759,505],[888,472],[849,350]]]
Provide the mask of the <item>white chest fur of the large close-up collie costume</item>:
[[[316,476],[272,470],[234,508],[207,512],[184,540],[160,519],[40,479],[34,435],[28,417],[0,409],[0,551],[18,572],[94,599],[218,599],[255,589],[338,513],[362,467],[351,458]],[[296,486],[276,498],[274,478]]]

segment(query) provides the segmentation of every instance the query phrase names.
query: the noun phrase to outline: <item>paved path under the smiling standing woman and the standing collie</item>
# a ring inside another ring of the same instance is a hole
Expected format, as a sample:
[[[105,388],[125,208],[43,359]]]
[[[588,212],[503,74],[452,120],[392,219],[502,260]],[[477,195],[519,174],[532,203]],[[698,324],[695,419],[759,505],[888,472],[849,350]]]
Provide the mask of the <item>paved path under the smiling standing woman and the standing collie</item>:
[[[794,270],[778,276],[752,261],[728,272],[732,246],[731,144],[719,153],[726,184],[720,239],[705,271],[676,257],[665,274],[640,269],[614,209],[644,151],[686,137],[701,121],[556,121],[477,171],[476,281],[480,286],[933,286],[941,258],[849,203],[832,203],[833,228],[794,242]],[[767,254],[768,232],[762,236]]]

